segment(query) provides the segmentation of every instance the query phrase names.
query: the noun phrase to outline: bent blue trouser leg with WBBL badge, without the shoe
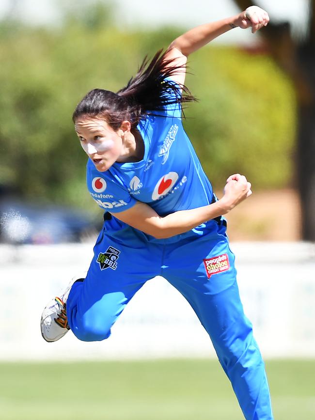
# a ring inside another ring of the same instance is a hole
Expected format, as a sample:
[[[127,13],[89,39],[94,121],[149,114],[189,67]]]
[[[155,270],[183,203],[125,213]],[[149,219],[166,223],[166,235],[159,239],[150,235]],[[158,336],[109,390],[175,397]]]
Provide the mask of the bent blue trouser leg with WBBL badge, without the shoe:
[[[96,242],[87,276],[73,284],[66,302],[69,327],[79,340],[110,336],[132,296],[159,274],[162,249],[158,248],[136,237],[126,244],[104,235]]]

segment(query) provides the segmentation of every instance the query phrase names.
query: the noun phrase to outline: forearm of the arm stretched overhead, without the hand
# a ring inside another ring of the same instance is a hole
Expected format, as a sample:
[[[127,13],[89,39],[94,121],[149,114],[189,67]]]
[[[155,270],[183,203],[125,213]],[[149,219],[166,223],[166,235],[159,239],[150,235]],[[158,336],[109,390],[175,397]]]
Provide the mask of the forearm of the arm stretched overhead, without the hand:
[[[176,38],[170,47],[175,47],[179,49],[182,54],[188,56],[192,52],[211,42],[213,39],[234,28],[236,26],[237,17],[238,16],[228,17],[217,22],[197,26]]]

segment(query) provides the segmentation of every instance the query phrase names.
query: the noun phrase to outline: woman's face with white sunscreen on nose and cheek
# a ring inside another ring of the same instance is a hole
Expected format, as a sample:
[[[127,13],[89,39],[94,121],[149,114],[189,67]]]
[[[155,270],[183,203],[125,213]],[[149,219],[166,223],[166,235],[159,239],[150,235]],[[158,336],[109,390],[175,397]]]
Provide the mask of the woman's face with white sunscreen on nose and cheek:
[[[75,122],[81,146],[97,171],[107,171],[123,151],[122,130],[114,131],[106,121],[82,115]]]

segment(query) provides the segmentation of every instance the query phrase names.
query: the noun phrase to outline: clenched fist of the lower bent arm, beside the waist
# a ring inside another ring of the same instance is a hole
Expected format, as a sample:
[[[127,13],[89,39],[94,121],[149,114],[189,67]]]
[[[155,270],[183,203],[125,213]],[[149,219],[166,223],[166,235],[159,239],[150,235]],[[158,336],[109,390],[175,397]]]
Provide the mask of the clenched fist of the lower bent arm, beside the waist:
[[[251,187],[252,184],[244,175],[235,173],[228,177],[223,190],[224,196],[219,200],[226,213],[252,194]]]

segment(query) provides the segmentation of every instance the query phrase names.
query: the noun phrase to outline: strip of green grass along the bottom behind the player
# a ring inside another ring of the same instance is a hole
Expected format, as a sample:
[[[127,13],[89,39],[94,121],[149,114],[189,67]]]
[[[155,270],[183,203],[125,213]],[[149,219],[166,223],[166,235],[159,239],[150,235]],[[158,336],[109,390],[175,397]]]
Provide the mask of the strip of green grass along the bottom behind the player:
[[[315,419],[315,359],[266,362],[276,420]],[[241,420],[216,360],[0,363],[1,420]]]

